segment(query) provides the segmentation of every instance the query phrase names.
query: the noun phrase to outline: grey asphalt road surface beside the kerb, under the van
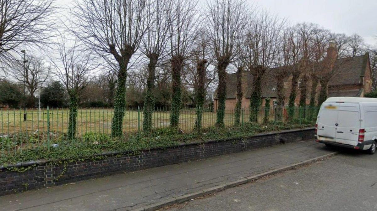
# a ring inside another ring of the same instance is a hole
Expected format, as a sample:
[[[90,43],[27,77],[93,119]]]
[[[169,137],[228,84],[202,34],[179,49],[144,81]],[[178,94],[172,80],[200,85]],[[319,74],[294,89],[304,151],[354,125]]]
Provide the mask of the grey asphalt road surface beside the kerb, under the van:
[[[377,154],[332,158],[191,200],[169,210],[377,210]]]

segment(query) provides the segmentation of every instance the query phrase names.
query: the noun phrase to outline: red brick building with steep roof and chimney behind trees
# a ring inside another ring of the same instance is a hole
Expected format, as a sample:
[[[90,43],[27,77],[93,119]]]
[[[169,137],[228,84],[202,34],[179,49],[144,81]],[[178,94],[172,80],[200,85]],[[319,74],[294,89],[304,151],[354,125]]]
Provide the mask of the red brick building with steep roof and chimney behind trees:
[[[371,68],[369,65],[369,54],[362,56],[346,57],[336,59],[337,55],[334,47],[329,47],[327,55],[334,58],[326,58],[326,60],[333,60],[331,65],[332,76],[328,83],[328,97],[333,96],[354,96],[363,97],[364,93],[371,91]],[[325,65],[322,65],[325,66]],[[279,68],[279,67],[278,67]],[[266,71],[262,80],[262,106],[265,104],[265,98],[271,98],[271,106],[276,104],[276,77],[273,77],[273,72],[278,71],[278,68],[271,68]],[[322,68],[320,71],[326,71]],[[320,74],[320,72],[319,72]],[[242,107],[248,108],[250,105],[250,95],[253,90],[253,75],[249,71],[242,73],[242,92],[244,93],[242,99]],[[288,99],[291,91],[292,75],[290,74],[284,80],[284,105],[288,104]],[[299,83],[301,78],[299,79]],[[312,81],[308,81],[307,86],[307,105],[310,102],[310,90]],[[226,109],[234,109],[237,102],[237,76],[236,73],[227,74],[227,99],[225,102]],[[299,86],[298,86],[299,87]],[[299,104],[300,90],[297,87],[297,96],[295,105]],[[317,86],[315,99],[318,98],[320,84]],[[218,97],[215,94],[214,107],[217,108]]]

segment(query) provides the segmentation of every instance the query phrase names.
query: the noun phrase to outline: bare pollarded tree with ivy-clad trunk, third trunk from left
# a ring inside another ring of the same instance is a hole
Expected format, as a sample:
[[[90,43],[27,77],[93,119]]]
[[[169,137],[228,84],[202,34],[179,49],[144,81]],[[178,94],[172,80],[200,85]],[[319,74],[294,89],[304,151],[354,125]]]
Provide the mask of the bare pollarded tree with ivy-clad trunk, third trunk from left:
[[[170,0],[156,0],[148,6],[147,22],[151,23],[142,39],[140,50],[149,59],[147,89],[143,107],[143,130],[152,130],[152,112],[155,109],[153,89],[155,86],[155,69],[162,62],[166,62],[166,47],[171,34],[169,12],[172,3]]]

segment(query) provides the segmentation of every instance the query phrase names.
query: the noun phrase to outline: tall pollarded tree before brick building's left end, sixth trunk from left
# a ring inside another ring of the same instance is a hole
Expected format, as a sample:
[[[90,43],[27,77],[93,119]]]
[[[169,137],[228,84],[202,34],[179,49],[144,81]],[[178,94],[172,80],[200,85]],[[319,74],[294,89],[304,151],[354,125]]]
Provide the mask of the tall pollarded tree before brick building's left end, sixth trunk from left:
[[[207,4],[208,39],[218,71],[216,124],[224,127],[227,95],[227,67],[236,59],[237,46],[242,42],[250,13],[243,0],[213,0]]]

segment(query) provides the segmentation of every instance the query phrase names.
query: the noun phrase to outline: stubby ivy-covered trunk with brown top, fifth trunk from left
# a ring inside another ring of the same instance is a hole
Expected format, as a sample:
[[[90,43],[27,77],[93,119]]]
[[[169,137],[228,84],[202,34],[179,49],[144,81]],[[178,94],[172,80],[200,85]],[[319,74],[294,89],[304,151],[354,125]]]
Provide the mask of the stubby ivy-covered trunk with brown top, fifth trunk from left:
[[[195,121],[195,128],[198,131],[202,130],[202,116],[203,116],[203,105],[204,105],[204,98],[205,98],[205,64],[207,60],[203,59],[198,61],[198,65],[196,67],[196,72],[198,74],[198,84],[196,86],[196,121]]]

